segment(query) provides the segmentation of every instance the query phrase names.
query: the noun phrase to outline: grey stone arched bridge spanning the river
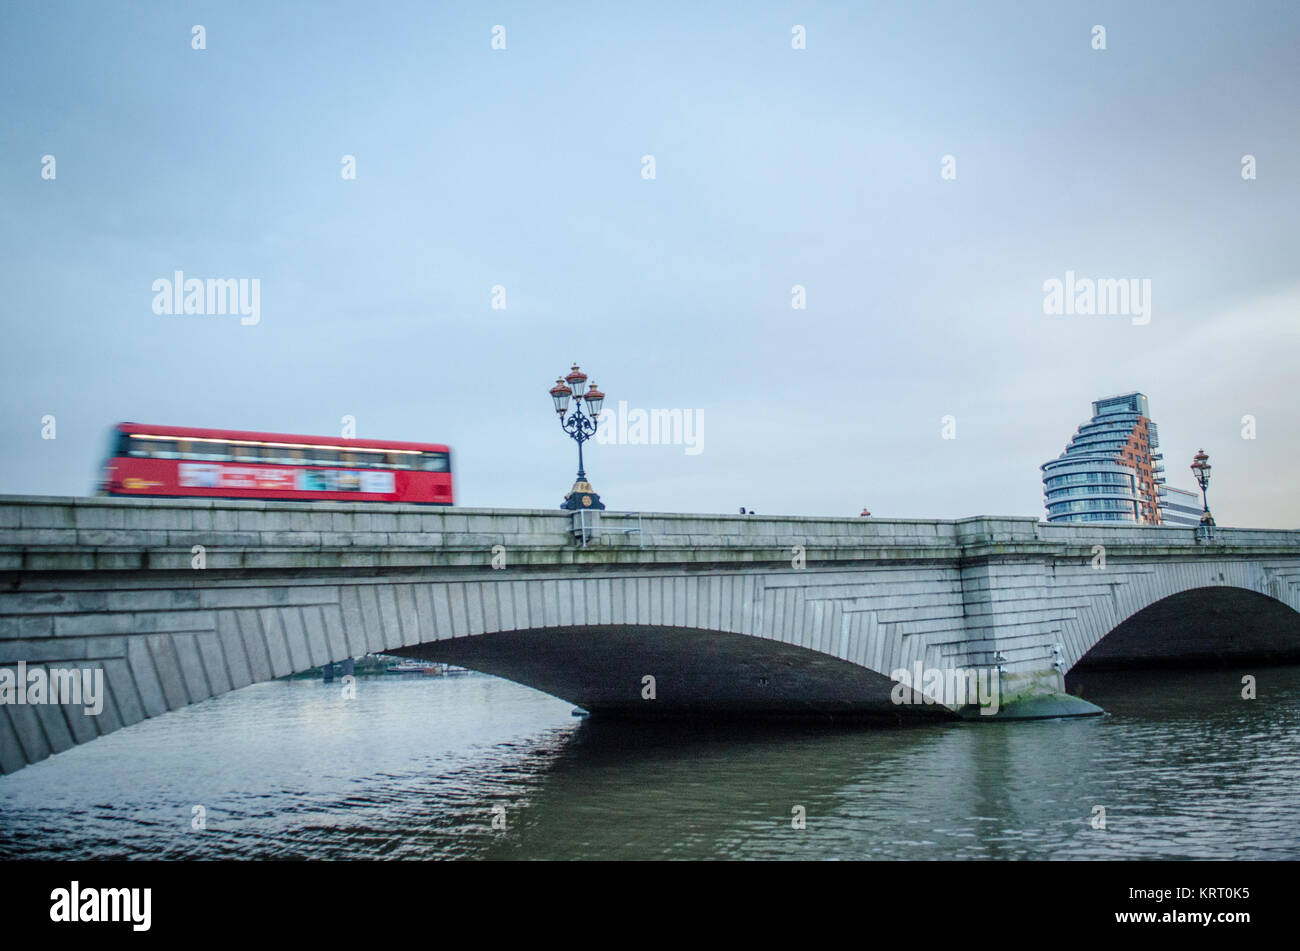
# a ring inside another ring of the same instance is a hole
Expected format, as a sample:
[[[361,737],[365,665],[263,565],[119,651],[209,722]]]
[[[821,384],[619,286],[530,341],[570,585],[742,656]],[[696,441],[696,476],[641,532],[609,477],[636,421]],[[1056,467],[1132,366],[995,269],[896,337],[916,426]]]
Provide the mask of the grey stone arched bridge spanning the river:
[[[0,496],[0,668],[105,682],[95,716],[9,695],[0,770],[367,652],[593,713],[950,717],[893,674],[998,670],[1006,713],[1076,668],[1296,660],[1297,612],[1300,531]]]

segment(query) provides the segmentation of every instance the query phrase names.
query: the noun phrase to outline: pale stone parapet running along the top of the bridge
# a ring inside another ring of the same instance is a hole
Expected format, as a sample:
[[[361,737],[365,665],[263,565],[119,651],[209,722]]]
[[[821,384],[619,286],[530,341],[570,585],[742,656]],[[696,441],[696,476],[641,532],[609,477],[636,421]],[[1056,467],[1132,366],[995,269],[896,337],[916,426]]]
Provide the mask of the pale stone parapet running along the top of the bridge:
[[[593,513],[597,514],[597,513]],[[970,559],[1257,557],[1300,553],[1300,531],[1052,525],[1026,517],[828,518],[601,512],[585,547],[552,509],[374,503],[0,496],[0,572],[428,568],[482,564],[952,561]]]

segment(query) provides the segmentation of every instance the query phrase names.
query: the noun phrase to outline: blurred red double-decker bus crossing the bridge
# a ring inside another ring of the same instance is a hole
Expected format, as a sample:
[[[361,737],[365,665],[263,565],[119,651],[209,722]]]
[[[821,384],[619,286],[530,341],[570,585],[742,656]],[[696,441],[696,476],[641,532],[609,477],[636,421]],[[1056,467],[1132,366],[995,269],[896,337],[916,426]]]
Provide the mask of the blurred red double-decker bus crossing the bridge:
[[[450,505],[451,450],[434,443],[120,422],[108,495]]]

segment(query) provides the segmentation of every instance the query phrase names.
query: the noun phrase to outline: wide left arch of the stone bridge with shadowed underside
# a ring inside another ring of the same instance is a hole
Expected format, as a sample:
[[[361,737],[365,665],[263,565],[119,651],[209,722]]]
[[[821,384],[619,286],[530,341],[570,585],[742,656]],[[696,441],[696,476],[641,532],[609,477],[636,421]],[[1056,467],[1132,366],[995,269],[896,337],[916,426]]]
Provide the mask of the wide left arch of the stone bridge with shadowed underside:
[[[0,639],[0,666],[100,668],[105,696],[94,716],[72,704],[0,707],[0,772],[372,652],[459,664],[599,713],[952,716],[937,704],[900,709],[892,700],[884,672],[919,659],[923,639],[904,644],[868,613],[809,596],[809,578],[836,579],[760,566],[261,583],[213,572],[4,594],[3,607],[34,635]],[[653,702],[642,696],[647,676]]]

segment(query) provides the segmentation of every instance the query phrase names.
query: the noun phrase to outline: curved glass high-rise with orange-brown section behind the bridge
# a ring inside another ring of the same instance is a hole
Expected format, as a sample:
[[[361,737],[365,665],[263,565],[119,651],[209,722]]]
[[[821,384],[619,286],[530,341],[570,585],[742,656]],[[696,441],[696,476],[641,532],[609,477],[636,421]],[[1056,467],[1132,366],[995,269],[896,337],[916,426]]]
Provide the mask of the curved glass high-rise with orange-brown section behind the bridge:
[[[1158,446],[1143,394],[1093,401],[1065,452],[1040,466],[1048,521],[1197,525],[1199,498],[1165,485]]]

